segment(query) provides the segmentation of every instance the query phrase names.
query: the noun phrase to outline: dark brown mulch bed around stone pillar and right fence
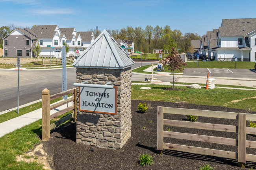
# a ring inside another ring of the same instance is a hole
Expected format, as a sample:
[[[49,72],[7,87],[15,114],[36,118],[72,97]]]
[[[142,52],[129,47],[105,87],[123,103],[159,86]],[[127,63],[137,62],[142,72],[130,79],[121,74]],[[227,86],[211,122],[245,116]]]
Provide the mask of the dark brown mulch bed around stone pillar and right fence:
[[[147,112],[144,114],[141,114],[137,111],[137,105],[140,102],[146,102],[146,104],[150,104],[150,108],[148,108]],[[219,106],[133,100],[132,137],[122,147],[122,149],[111,150],[75,143],[76,123],[71,123],[67,126],[61,126],[59,128],[56,128],[51,133],[52,138],[50,138],[49,141],[43,142],[46,153],[50,157],[52,157],[52,168],[56,170],[198,170],[202,165],[206,165],[207,163],[209,163],[210,166],[215,168],[215,170],[243,169],[237,167],[236,160],[221,157],[189,154],[186,152],[177,152],[171,150],[164,150],[162,156],[158,155],[156,150],[157,106],[245,113],[245,111],[241,109],[225,108]],[[256,112],[251,113],[256,114]],[[186,115],[164,114],[164,119],[185,121]],[[197,122],[237,125],[236,120],[208,117],[198,117]],[[143,126],[145,126],[146,128],[143,129]],[[170,128],[172,132],[195,133],[201,135],[237,138],[237,134],[231,132],[218,132],[211,130],[197,130],[191,128],[164,126],[164,130],[166,130],[167,128]],[[256,141],[256,137],[252,135],[247,135],[246,137],[247,140]],[[164,138],[164,142],[237,152],[237,146],[228,146],[222,144],[188,141],[172,138]],[[94,152],[91,152],[90,148],[94,148]],[[154,164],[141,167],[138,163],[138,154],[146,153],[153,156]],[[247,148],[247,154],[256,154],[256,149]],[[256,168],[256,163],[247,163],[246,165],[247,167]]]

